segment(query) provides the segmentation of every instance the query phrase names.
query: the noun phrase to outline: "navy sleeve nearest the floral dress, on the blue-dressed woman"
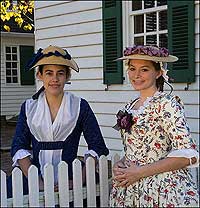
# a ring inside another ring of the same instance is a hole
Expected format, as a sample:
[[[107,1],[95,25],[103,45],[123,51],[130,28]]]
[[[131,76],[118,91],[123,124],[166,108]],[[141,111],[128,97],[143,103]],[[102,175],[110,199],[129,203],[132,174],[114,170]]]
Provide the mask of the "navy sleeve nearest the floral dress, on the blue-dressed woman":
[[[87,101],[82,99],[85,106],[84,116],[82,120],[83,135],[88,144],[88,150],[95,151],[98,156],[108,155],[109,150],[105,145],[96,117]]]

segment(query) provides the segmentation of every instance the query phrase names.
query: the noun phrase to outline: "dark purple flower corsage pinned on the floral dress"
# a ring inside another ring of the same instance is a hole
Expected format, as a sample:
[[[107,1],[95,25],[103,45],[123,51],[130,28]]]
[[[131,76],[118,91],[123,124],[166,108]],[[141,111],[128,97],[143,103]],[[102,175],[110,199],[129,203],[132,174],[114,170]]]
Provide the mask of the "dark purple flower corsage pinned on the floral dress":
[[[135,123],[133,115],[128,113],[126,110],[120,110],[117,115],[117,124],[113,128],[117,131],[124,129],[125,132],[130,133],[131,126]]]

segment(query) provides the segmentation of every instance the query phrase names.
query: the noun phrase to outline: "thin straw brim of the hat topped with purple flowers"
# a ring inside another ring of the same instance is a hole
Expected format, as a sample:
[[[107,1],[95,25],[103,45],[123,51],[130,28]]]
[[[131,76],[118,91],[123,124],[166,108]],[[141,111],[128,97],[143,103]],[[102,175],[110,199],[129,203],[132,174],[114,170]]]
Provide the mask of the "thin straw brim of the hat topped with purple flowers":
[[[148,60],[148,61],[154,61],[154,62],[167,62],[167,63],[178,61],[178,58],[172,55],[169,55],[167,57],[156,57],[156,56],[148,56],[148,55],[141,55],[141,54],[132,54],[129,56],[123,56],[123,57],[117,58],[116,61],[131,60],[131,59],[140,59],[140,60]]]

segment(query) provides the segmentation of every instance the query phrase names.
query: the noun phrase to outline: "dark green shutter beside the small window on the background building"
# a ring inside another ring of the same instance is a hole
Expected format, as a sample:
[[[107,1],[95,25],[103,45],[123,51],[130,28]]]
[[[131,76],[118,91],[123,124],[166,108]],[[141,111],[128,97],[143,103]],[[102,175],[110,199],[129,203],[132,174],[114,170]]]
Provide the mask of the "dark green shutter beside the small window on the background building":
[[[20,77],[21,77],[21,85],[34,85],[34,70],[25,71],[25,66],[28,61],[31,59],[34,53],[33,46],[20,46]]]

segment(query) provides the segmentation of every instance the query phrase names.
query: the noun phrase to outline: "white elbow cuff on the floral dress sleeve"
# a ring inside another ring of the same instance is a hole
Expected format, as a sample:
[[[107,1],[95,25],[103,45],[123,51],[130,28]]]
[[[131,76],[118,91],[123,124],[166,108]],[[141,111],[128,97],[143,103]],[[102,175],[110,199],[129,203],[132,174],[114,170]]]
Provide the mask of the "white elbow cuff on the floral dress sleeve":
[[[172,150],[167,157],[185,157],[190,160],[190,165],[187,168],[196,168],[199,167],[199,153],[194,149],[179,149]],[[192,158],[196,158],[196,163],[192,164]]]

